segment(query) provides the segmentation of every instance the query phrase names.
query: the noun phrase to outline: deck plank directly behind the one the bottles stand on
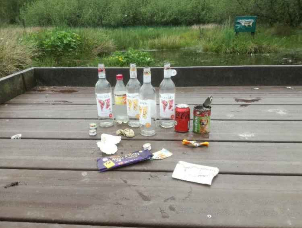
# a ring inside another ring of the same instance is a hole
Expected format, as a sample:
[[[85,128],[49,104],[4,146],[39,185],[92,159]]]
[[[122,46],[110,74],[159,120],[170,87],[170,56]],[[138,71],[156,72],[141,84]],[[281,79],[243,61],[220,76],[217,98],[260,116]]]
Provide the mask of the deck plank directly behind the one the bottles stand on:
[[[193,119],[193,105],[190,105]],[[157,107],[159,118],[159,107]],[[2,104],[0,118],[97,119],[96,105]],[[213,105],[212,120],[302,120],[302,105]]]

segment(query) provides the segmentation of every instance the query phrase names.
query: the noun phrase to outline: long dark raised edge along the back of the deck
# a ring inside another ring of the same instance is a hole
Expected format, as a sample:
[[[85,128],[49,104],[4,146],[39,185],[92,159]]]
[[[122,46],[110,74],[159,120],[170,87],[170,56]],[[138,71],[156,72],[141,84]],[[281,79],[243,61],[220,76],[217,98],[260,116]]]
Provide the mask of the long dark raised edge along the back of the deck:
[[[175,67],[176,86],[242,86],[242,85],[302,85],[302,66],[218,66]],[[143,81],[143,68],[138,68],[138,79]],[[106,76],[115,85],[115,75],[129,80],[129,68],[106,68]],[[97,68],[35,68],[40,84],[48,86],[94,86]],[[163,79],[163,68],[151,68],[153,86]]]

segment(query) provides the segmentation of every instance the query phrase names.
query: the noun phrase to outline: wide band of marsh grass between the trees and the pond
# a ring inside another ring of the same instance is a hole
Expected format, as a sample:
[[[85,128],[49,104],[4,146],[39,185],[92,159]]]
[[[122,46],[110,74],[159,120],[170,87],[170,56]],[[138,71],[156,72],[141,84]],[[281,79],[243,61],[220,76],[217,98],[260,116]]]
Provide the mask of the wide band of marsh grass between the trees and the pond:
[[[42,47],[40,45],[57,31],[76,33],[80,39],[76,50],[63,52],[63,57],[59,61],[51,54],[52,52],[45,51],[43,45]],[[144,50],[174,50],[190,47],[188,51],[196,52],[197,49],[201,49],[217,54],[241,54],[242,58],[245,58],[246,54],[291,53],[302,49],[302,29],[257,25],[255,37],[252,38],[248,33],[240,33],[236,37],[230,25],[25,29],[9,26],[0,28],[0,77],[30,66],[85,67],[96,66],[101,61],[105,61],[108,66],[127,66],[128,60],[137,61],[138,64],[141,60],[142,64],[145,64],[144,61],[149,57],[143,54]],[[127,52],[114,53],[114,51],[129,49],[135,50],[133,55],[131,51],[131,55]],[[128,60],[117,61],[116,57],[122,55]],[[136,60],[135,56],[137,56]],[[173,62],[173,59],[165,60]],[[149,64],[159,66],[162,65],[162,61],[158,61],[155,57]]]

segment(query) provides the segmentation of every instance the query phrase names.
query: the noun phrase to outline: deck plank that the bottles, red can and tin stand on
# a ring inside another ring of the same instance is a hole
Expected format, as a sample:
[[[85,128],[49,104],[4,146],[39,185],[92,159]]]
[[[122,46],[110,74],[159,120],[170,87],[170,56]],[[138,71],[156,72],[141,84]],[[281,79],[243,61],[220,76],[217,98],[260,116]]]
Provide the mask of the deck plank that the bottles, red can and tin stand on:
[[[0,119],[0,138],[22,134],[27,139],[97,139],[101,133],[115,134],[124,126],[97,129],[97,136],[89,136],[91,120],[57,119]],[[191,121],[191,129],[192,129]],[[157,134],[144,137],[134,129],[133,140],[210,140],[240,142],[302,142],[301,121],[211,121],[210,134],[174,132],[173,129],[157,127]],[[124,137],[123,137],[124,138]]]

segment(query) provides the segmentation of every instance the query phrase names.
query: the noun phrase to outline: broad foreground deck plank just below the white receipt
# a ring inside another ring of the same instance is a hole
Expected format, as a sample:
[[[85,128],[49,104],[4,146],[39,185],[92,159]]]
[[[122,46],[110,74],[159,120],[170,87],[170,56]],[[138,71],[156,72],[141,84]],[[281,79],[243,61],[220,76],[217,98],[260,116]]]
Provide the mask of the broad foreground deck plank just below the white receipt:
[[[169,227],[300,227],[302,177],[2,170],[0,220]],[[211,215],[211,218],[208,218]]]

